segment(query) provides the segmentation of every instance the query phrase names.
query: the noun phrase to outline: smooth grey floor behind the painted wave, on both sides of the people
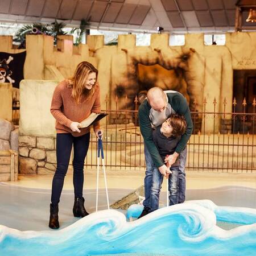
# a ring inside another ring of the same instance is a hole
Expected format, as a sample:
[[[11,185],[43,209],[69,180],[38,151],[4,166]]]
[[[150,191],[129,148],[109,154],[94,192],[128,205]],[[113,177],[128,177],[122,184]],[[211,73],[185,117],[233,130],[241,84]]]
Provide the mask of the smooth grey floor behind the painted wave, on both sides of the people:
[[[127,195],[129,189],[109,189],[110,204]],[[51,190],[17,187],[0,183],[0,225],[19,230],[49,230],[49,200]],[[85,206],[89,213],[95,211],[96,191],[84,191]],[[164,203],[165,193],[160,196]],[[220,187],[188,189],[187,200],[209,199],[217,205],[256,208],[256,189],[246,187]],[[59,204],[60,229],[79,218],[73,217],[73,191],[64,190]],[[107,209],[105,190],[99,193],[99,210]],[[123,211],[125,213],[125,211]]]

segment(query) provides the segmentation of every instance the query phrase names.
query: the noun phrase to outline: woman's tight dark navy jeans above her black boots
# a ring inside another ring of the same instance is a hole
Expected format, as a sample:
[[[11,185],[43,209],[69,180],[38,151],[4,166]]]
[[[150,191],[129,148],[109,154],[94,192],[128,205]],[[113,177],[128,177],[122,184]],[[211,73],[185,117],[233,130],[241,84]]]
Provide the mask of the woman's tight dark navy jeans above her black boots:
[[[52,180],[53,205],[59,204],[61,191],[63,189],[64,177],[68,171],[68,164],[71,155],[72,145],[73,158],[73,185],[75,196],[82,197],[84,185],[84,159],[88,151],[90,133],[79,137],[73,137],[70,133],[58,133],[56,138],[57,168]]]

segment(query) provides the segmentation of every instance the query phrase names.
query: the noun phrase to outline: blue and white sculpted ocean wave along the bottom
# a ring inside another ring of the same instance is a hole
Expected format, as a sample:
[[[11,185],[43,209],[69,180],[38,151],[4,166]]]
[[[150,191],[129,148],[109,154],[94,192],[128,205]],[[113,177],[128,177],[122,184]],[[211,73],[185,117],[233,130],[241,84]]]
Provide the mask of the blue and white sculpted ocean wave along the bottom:
[[[216,225],[217,216],[227,216],[230,222],[245,219],[246,225],[224,230]],[[20,232],[0,226],[1,256],[122,253],[256,255],[256,209],[196,200],[159,209],[133,222],[117,210],[102,210],[55,232]]]

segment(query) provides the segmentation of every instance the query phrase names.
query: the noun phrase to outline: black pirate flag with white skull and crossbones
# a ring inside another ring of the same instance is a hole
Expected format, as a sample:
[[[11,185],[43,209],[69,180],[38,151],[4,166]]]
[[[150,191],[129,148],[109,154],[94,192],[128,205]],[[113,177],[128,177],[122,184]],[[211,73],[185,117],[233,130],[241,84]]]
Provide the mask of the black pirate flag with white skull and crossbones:
[[[11,82],[19,88],[19,82],[24,79],[23,68],[26,52],[0,52],[0,82]]]

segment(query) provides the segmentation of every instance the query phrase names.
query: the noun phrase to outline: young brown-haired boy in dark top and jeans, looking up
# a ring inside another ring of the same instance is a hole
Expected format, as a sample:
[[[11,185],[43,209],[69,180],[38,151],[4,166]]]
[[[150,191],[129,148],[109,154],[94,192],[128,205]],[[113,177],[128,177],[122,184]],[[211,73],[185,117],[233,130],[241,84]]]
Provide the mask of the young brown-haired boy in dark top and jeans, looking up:
[[[172,114],[161,126],[156,127],[156,130],[153,131],[153,141],[164,162],[167,155],[174,153],[177,143],[179,143],[181,135],[185,133],[186,128],[187,123],[184,117]],[[179,199],[179,158],[170,167],[168,179],[170,205],[174,205],[178,203]],[[158,168],[154,168],[150,195],[150,212],[159,207],[159,194],[162,183],[163,175],[159,172]]]

